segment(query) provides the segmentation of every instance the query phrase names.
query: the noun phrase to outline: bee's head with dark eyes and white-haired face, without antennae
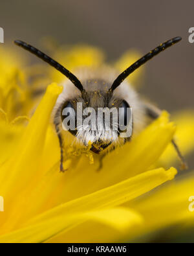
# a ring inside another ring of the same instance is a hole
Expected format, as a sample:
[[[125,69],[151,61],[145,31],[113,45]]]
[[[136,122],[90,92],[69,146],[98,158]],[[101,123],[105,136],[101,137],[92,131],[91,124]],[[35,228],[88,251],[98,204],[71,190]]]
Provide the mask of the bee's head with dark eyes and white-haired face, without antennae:
[[[83,145],[91,143],[91,150],[100,153],[117,143],[120,135],[126,132],[131,109],[125,100],[115,97],[109,89],[95,89],[95,85],[102,88],[107,84],[105,81],[87,80],[83,84],[90,84],[92,90],[87,89],[84,95],[63,102],[61,121],[64,130],[76,136]]]

